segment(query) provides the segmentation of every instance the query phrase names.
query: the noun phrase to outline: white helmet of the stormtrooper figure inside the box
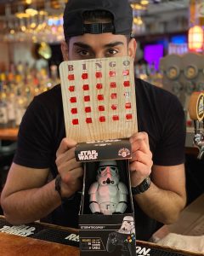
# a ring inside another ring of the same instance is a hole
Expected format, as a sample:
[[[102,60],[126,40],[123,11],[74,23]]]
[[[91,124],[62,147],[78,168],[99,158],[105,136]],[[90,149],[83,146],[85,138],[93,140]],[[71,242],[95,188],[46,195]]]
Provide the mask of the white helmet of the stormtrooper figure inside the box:
[[[116,160],[103,160],[99,162],[97,181],[100,185],[113,185],[119,183],[119,173]]]

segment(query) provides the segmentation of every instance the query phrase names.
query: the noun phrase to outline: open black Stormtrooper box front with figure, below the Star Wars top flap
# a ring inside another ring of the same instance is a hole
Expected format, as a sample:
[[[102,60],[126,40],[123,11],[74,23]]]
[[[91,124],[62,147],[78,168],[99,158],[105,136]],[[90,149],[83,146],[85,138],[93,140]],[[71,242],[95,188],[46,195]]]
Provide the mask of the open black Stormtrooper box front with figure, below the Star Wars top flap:
[[[81,255],[136,255],[128,160],[86,162],[79,214]]]

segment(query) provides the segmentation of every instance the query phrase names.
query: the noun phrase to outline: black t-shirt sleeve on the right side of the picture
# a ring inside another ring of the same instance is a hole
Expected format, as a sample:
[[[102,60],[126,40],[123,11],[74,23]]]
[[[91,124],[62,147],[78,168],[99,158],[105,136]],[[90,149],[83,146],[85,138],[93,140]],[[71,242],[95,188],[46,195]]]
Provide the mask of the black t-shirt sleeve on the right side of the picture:
[[[184,109],[178,98],[172,96],[164,112],[161,140],[153,156],[154,164],[176,166],[184,163],[185,134]]]

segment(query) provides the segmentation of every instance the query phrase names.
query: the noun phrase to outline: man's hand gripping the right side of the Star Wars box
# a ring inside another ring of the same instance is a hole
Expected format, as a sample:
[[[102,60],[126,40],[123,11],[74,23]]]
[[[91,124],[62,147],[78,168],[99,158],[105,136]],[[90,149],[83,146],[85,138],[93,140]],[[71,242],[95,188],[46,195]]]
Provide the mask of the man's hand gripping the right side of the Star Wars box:
[[[149,138],[146,132],[134,133],[130,137],[132,159],[130,160],[131,185],[135,187],[148,177],[153,165]]]

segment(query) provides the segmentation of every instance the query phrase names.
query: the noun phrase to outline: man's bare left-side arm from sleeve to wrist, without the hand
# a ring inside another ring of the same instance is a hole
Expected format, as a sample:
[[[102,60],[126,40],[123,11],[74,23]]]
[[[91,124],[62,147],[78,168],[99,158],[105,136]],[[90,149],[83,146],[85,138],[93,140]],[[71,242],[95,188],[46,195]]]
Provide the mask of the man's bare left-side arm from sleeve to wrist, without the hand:
[[[1,195],[8,222],[25,224],[40,219],[60,205],[54,181],[46,183],[48,169],[33,169],[12,164]]]

